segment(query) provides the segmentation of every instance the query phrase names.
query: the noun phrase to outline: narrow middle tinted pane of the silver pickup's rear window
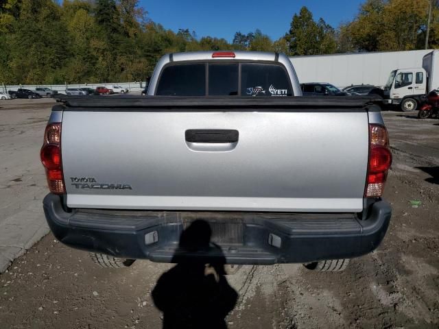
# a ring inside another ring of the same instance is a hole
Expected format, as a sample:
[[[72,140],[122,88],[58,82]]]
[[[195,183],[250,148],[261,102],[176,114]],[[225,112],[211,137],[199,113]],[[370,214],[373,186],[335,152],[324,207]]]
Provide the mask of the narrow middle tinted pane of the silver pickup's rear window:
[[[209,96],[238,95],[238,64],[209,64]]]

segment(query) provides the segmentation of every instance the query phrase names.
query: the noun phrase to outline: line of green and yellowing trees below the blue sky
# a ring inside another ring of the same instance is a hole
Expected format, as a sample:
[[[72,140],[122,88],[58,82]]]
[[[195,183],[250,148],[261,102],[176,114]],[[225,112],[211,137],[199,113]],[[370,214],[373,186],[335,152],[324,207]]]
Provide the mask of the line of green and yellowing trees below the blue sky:
[[[233,42],[173,32],[147,19],[139,0],[0,0],[0,83],[62,84],[145,80],[158,59],[176,51],[250,50],[288,55],[422,49],[429,0],[365,0],[337,29],[306,7],[289,31],[271,40],[261,30]],[[434,1],[434,3],[436,3]],[[439,47],[434,5],[430,47]]]

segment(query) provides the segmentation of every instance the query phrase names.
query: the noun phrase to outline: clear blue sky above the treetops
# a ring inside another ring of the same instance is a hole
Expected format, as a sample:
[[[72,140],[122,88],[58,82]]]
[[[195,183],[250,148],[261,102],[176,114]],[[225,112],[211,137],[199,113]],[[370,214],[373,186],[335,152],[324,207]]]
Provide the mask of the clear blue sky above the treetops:
[[[194,30],[198,38],[216,36],[228,41],[235,32],[252,32],[259,28],[273,40],[289,29],[294,13],[306,5],[315,20],[320,17],[333,27],[350,21],[364,0],[252,0],[252,1],[147,1],[140,3],[148,17],[165,28]]]

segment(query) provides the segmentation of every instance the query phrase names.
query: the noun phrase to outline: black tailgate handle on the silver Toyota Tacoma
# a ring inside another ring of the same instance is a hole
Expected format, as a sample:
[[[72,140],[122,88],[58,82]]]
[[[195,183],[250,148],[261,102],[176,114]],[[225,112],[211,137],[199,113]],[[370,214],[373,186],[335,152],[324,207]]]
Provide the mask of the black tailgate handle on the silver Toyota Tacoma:
[[[237,130],[189,129],[185,132],[188,143],[237,143]]]

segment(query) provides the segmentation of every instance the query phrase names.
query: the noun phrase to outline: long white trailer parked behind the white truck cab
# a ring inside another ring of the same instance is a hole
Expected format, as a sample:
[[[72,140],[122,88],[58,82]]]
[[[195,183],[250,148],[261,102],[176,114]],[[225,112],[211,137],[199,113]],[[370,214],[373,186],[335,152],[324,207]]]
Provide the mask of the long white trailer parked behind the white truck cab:
[[[293,56],[289,59],[300,83],[329,82],[338,88],[353,84],[383,87],[389,73],[400,67],[422,67],[432,49],[374,53]]]

